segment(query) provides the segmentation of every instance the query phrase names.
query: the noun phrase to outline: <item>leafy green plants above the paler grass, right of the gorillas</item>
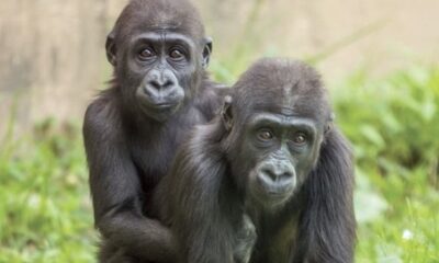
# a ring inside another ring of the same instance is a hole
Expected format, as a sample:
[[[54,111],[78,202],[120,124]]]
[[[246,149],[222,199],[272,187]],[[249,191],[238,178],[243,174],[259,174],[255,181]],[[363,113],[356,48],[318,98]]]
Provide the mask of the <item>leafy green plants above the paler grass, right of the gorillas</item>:
[[[361,146],[356,148],[360,164],[378,161],[381,173],[402,175],[437,167],[438,68],[413,68],[381,81],[359,71],[331,94],[345,133]]]

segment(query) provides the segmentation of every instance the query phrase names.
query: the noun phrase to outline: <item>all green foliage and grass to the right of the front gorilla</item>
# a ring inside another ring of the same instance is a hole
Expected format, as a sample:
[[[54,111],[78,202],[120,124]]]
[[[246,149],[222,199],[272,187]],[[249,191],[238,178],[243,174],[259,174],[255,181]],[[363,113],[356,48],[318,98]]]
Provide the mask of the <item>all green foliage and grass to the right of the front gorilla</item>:
[[[439,68],[360,70],[330,92],[357,156],[357,262],[439,262]]]

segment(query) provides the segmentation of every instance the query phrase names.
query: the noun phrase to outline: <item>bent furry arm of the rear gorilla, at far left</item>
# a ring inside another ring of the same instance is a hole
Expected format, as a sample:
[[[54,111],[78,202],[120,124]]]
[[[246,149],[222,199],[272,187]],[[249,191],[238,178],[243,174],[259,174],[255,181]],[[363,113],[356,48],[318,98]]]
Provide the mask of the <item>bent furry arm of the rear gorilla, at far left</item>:
[[[173,262],[176,245],[168,228],[142,214],[140,182],[117,114],[97,101],[87,111],[85,144],[90,163],[90,187],[97,228],[131,255],[156,262]]]

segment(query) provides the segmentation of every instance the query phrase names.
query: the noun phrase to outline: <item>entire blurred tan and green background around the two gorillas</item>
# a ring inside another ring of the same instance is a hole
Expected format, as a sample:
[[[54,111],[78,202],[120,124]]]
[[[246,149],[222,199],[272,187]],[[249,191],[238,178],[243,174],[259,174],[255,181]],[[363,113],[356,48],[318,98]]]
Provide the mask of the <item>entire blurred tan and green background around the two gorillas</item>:
[[[85,108],[127,1],[0,2],[0,262],[94,262]],[[439,1],[195,0],[212,77],[261,56],[322,72],[357,157],[357,262],[439,262]]]

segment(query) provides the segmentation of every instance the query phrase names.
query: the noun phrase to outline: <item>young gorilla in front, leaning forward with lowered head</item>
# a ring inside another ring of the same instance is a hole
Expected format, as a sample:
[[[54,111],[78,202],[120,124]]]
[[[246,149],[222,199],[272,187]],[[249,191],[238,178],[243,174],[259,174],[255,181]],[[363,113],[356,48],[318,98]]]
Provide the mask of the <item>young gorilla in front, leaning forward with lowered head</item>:
[[[244,73],[155,192],[182,262],[352,262],[352,157],[331,115],[302,62],[261,59]]]

